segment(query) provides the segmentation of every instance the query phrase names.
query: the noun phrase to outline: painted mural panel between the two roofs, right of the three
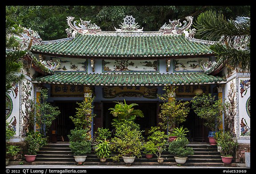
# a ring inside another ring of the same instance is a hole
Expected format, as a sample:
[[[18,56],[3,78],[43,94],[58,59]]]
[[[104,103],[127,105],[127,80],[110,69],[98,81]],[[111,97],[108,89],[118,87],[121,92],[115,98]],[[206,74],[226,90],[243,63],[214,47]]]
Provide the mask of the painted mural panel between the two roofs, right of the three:
[[[210,58],[184,58],[173,59],[173,72],[201,72],[201,65],[207,63]]]

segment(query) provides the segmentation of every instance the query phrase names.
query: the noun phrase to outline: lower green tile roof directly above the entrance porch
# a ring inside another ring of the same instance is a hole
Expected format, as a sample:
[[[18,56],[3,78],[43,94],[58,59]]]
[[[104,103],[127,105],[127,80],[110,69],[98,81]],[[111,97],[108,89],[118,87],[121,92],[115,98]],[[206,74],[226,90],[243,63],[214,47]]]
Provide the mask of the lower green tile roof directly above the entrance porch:
[[[54,73],[34,82],[70,85],[200,85],[225,83],[222,77],[205,73]]]

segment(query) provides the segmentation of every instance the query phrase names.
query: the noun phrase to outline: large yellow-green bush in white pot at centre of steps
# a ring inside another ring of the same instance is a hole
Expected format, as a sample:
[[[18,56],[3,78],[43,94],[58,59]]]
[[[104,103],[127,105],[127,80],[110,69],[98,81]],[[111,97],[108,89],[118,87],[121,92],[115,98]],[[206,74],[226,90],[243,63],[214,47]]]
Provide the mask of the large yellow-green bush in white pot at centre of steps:
[[[116,124],[116,134],[111,139],[112,148],[124,159],[126,166],[131,166],[136,156],[141,157],[142,141],[139,124],[127,120]]]

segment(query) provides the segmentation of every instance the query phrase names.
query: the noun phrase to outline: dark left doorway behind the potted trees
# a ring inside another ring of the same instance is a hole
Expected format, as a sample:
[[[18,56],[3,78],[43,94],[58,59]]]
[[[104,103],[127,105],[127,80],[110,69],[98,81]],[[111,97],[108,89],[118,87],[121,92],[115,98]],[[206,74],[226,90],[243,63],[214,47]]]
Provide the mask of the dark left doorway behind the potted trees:
[[[78,104],[76,104],[76,101],[55,101],[54,106],[59,107],[60,115],[52,122],[48,132],[49,140],[52,142],[52,131],[55,131],[55,141],[68,141],[67,135],[70,134],[70,130],[75,128],[69,116],[75,116]]]

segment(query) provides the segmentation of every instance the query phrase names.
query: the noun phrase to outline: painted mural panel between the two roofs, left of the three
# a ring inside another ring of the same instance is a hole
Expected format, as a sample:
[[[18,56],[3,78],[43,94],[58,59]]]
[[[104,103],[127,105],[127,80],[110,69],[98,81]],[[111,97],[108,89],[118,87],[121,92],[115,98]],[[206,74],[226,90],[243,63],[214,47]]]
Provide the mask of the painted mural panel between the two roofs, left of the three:
[[[52,62],[60,60],[60,66],[55,71],[79,71],[87,72],[88,70],[88,59],[82,58],[51,58]]]

